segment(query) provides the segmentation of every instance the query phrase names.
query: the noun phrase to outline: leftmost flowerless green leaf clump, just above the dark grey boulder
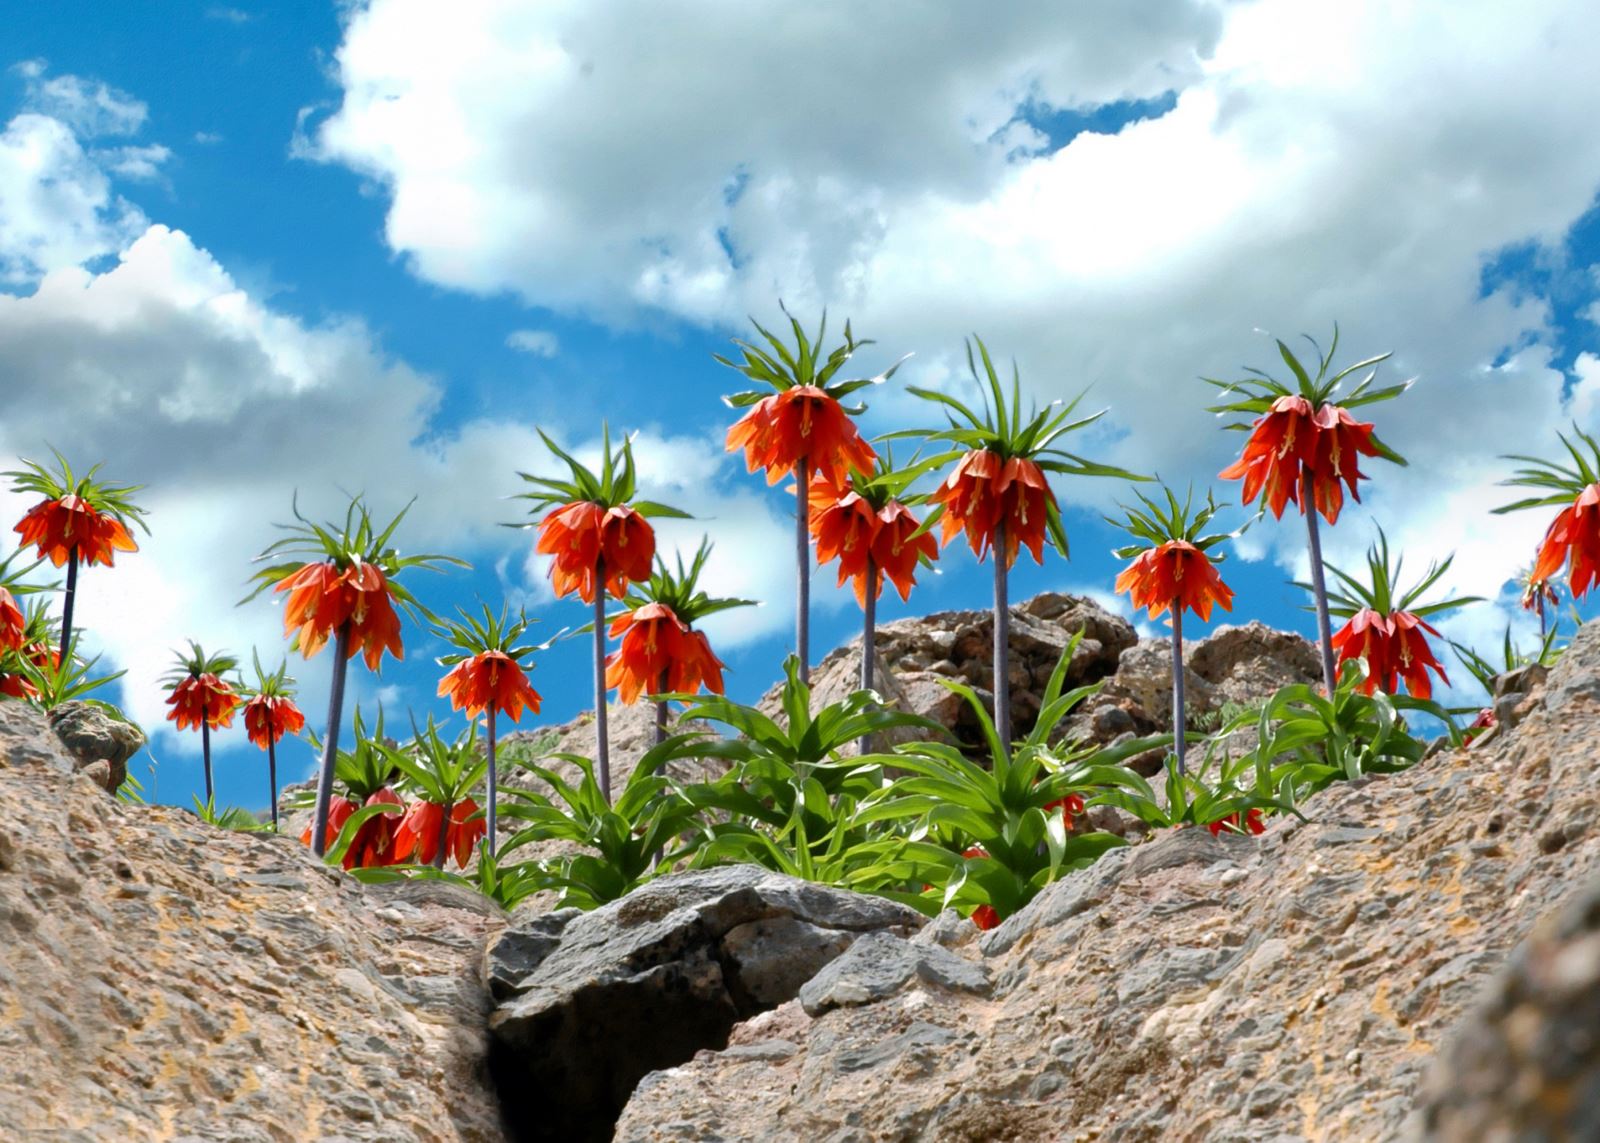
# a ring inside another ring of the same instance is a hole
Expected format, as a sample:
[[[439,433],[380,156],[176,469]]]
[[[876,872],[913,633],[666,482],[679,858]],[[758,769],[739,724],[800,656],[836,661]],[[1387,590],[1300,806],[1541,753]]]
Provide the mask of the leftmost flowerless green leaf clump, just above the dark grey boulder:
[[[554,888],[560,904],[579,909],[614,901],[656,872],[670,869],[698,840],[699,808],[659,768],[682,757],[694,741],[694,735],[674,735],[646,751],[614,804],[595,780],[594,764],[579,754],[552,756],[578,770],[576,784],[550,767],[523,764],[550,792],[506,789],[506,816],[526,826],[506,842],[501,860],[523,845],[546,840],[587,850],[533,863],[533,869],[522,874],[525,884]],[[502,876],[498,871],[496,876]]]

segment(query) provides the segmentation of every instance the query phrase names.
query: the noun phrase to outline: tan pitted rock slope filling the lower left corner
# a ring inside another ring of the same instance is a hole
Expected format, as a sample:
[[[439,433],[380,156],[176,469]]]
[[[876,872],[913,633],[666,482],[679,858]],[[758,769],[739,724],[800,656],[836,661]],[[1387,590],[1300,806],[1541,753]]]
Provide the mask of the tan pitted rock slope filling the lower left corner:
[[[499,1140],[477,893],[126,805],[0,701],[0,1137]]]

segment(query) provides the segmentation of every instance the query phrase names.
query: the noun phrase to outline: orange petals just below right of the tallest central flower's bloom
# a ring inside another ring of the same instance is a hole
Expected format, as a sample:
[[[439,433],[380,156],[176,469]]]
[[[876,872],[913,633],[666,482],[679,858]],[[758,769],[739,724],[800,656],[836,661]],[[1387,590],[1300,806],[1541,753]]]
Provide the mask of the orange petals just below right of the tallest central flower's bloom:
[[[838,583],[854,580],[856,602],[866,607],[867,592],[877,599],[886,575],[901,599],[910,599],[917,563],[939,559],[939,543],[931,533],[915,535],[920,522],[898,499],[883,507],[872,504],[845,485],[818,477],[811,482],[810,528],[816,538],[816,562],[838,559]],[[869,581],[870,562],[870,584]]]

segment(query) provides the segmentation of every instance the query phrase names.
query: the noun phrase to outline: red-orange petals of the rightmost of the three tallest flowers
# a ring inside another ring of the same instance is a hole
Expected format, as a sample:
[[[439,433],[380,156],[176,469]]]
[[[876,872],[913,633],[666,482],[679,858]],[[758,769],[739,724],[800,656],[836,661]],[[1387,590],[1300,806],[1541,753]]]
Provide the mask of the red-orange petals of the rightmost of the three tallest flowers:
[[[1312,408],[1298,394],[1272,402],[1272,408],[1256,419],[1243,455],[1219,474],[1224,480],[1243,480],[1240,499],[1248,504],[1266,493],[1272,515],[1283,515],[1285,504],[1302,512],[1312,506],[1301,503],[1301,485],[1310,479],[1315,509],[1334,523],[1344,507],[1344,480],[1350,496],[1360,501],[1357,482],[1365,475],[1357,469],[1360,456],[1378,456],[1373,424],[1357,421],[1338,405]]]

